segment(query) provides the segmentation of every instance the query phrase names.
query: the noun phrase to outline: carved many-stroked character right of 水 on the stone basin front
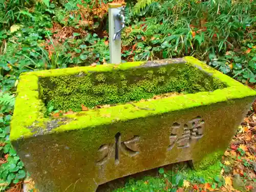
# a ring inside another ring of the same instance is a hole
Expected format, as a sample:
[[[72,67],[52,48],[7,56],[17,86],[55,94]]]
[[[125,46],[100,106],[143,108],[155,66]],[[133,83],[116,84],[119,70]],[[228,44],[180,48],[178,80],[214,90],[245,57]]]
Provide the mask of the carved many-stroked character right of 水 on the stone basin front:
[[[169,136],[170,144],[168,150],[172,150],[175,145],[177,148],[189,147],[191,142],[203,137],[203,132],[204,120],[201,117],[192,119],[184,124],[173,123],[172,133]]]

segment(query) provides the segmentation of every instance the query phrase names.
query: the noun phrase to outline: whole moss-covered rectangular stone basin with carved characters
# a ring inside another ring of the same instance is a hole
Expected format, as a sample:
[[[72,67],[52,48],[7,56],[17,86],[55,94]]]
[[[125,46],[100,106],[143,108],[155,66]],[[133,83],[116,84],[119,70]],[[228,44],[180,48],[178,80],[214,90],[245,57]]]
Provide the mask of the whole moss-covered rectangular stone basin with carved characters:
[[[182,95],[151,99],[171,92]],[[40,192],[95,191],[179,161],[209,166],[255,95],[193,57],[24,73],[10,139]]]

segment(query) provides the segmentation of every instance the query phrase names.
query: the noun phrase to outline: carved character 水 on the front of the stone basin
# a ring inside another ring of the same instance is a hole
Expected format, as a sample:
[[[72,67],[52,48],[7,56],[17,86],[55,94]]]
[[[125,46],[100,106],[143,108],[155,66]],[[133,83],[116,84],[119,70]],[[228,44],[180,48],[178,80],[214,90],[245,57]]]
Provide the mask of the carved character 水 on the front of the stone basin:
[[[126,156],[133,157],[139,154],[138,142],[139,136],[134,136],[126,141],[120,141],[121,134],[117,133],[115,136],[115,144],[103,144],[98,150],[98,161],[97,165],[103,165],[115,153],[115,163],[119,163],[119,154],[122,153]]]

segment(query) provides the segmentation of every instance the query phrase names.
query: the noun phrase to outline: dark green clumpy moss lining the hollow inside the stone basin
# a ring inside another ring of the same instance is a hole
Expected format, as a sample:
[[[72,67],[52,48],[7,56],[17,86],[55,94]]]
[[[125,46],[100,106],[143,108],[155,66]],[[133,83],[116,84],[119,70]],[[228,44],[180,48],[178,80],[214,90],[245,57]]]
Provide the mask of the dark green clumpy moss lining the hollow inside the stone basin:
[[[40,78],[42,98],[55,110],[81,111],[81,105],[125,103],[170,92],[197,93],[225,88],[189,63],[111,72]],[[67,99],[67,97],[69,99]]]

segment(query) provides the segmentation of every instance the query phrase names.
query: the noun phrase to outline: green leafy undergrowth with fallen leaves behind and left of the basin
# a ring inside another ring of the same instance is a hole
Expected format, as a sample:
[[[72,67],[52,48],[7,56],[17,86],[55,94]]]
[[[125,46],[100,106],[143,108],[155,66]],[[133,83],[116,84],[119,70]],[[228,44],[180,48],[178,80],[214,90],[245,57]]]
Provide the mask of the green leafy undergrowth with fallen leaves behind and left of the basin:
[[[0,191],[26,176],[9,141],[19,74],[109,62],[107,3],[0,0]],[[254,86],[256,1],[129,1],[125,16],[123,61],[190,55]]]

